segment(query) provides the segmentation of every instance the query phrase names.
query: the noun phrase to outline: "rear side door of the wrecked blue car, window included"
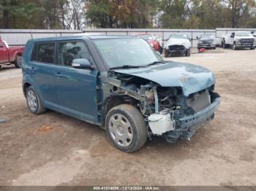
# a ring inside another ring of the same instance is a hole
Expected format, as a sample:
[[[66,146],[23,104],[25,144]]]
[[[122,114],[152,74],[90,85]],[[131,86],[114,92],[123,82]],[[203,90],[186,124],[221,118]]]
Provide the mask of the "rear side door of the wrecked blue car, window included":
[[[36,43],[29,64],[29,73],[42,102],[50,109],[57,107],[56,95],[56,42]]]

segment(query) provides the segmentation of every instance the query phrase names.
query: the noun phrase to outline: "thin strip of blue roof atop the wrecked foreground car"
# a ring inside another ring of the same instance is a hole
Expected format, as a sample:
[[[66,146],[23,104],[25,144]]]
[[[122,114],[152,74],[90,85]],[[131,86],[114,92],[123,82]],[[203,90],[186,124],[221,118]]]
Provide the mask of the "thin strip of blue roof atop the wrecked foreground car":
[[[55,36],[47,38],[38,38],[33,39],[35,42],[46,42],[46,41],[56,41],[56,40],[70,40],[70,39],[132,39],[138,38],[137,36],[128,36],[128,35],[72,35],[72,36]]]

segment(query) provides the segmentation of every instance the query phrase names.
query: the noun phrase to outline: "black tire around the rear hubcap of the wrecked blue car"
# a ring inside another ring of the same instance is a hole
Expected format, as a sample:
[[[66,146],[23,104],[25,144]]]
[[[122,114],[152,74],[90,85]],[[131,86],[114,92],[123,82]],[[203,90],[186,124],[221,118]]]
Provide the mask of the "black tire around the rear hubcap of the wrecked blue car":
[[[37,103],[37,106],[30,106],[29,104],[29,94],[34,93],[35,95],[35,102]],[[42,105],[42,101],[39,99],[39,96],[37,95],[36,91],[32,86],[29,86],[26,88],[26,103],[29,107],[29,111],[33,114],[42,114],[46,111],[45,106]],[[33,109],[32,109],[33,108]]]

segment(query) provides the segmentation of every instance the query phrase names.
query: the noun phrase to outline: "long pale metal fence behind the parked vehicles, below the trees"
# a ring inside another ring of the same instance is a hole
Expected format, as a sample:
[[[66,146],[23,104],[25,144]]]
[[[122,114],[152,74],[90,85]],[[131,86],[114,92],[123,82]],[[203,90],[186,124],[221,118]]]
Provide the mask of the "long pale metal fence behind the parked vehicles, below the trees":
[[[164,43],[170,34],[187,34],[192,39],[192,46],[197,46],[197,36],[201,34],[213,34],[221,37],[223,34],[229,34],[233,31],[256,31],[256,28],[216,28],[216,29],[151,29],[151,28],[91,28],[84,31],[87,34],[105,34],[105,35],[136,35],[136,34],[155,34],[161,36]],[[37,29],[0,29],[1,39],[4,39],[10,46],[24,45],[29,39],[68,36],[80,34],[78,30],[37,30]]]

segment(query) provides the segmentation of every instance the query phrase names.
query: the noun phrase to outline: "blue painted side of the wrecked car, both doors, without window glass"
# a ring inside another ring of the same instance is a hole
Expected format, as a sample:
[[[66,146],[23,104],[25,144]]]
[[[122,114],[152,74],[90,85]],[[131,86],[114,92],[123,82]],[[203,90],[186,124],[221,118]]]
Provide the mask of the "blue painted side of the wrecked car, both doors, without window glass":
[[[37,41],[27,42],[24,51],[23,85],[32,85],[46,108],[102,125],[97,105],[100,102],[97,97],[99,71],[31,61],[34,43]]]

